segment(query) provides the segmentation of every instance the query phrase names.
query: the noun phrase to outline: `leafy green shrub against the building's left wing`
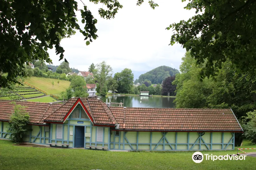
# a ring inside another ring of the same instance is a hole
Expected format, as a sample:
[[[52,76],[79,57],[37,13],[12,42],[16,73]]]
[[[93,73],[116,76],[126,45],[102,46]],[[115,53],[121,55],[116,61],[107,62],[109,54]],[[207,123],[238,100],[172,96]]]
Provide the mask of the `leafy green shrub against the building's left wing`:
[[[8,133],[11,133],[9,139],[15,143],[22,142],[23,135],[30,130],[29,115],[25,110],[24,106],[14,104],[14,112],[10,118],[10,127],[7,130]]]

